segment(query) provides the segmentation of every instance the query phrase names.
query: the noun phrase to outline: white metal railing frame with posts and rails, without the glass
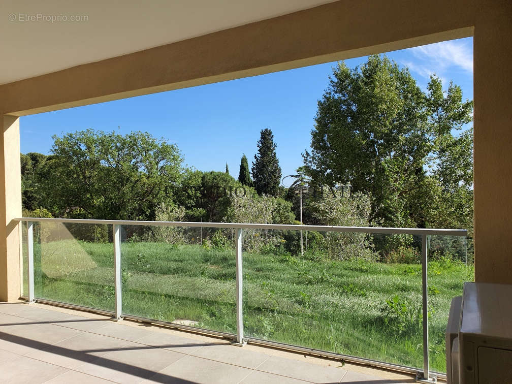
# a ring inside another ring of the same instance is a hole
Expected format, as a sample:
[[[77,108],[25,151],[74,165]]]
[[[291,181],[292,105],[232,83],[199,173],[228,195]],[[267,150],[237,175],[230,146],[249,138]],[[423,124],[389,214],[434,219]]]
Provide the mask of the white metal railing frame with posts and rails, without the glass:
[[[467,236],[465,229],[434,229],[434,228],[384,228],[384,227],[348,227],[348,226],[329,226],[329,225],[288,225],[288,224],[254,224],[254,223],[203,223],[203,222],[172,222],[172,221],[132,221],[132,220],[90,220],[90,219],[53,219],[53,218],[17,218],[19,222],[27,222],[27,241],[28,241],[28,280],[29,295],[28,302],[36,300],[41,302],[55,302],[37,299],[34,295],[34,250],[33,250],[33,223],[34,222],[57,222],[57,223],[76,223],[76,224],[111,224],[113,225],[114,240],[114,268],[115,268],[115,312],[114,318],[121,319],[133,318],[139,321],[147,321],[158,324],[166,324],[176,328],[197,329],[195,327],[185,327],[174,323],[161,322],[155,319],[142,318],[122,313],[122,295],[121,295],[121,225],[142,225],[142,226],[166,226],[166,227],[206,227],[206,228],[234,228],[237,229],[236,241],[236,295],[237,295],[237,334],[224,334],[214,330],[202,329],[202,332],[224,335],[236,339],[236,344],[243,346],[247,341],[251,343],[270,345],[274,347],[287,348],[290,350],[309,352],[313,354],[343,358],[347,361],[368,364],[372,366],[396,369],[411,373],[418,373],[417,381],[432,382],[429,369],[429,323],[428,323],[428,237],[432,235],[441,236]],[[300,346],[288,345],[269,340],[262,340],[254,337],[244,337],[243,330],[243,268],[242,268],[242,245],[243,229],[273,229],[273,230],[308,230],[321,232],[358,232],[358,233],[378,233],[378,234],[415,234],[421,236],[421,264],[422,264],[422,310],[423,310],[423,370],[416,368],[400,366],[384,361],[355,357],[350,355],[337,354],[328,351],[319,351]],[[57,303],[59,304],[59,303]],[[66,303],[60,303],[68,305]],[[73,306],[73,305],[71,305]],[[80,306],[77,306],[80,307]],[[80,307],[83,308],[83,307]],[[93,308],[91,308],[93,309]],[[437,377],[446,378],[445,374],[436,373]],[[435,377],[434,377],[435,380]]]

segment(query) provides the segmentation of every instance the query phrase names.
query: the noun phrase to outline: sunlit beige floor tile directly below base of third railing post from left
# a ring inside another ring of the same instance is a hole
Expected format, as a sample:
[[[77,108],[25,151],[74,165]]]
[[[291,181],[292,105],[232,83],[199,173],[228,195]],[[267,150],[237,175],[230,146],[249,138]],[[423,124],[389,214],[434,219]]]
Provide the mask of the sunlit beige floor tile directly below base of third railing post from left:
[[[247,351],[230,343],[202,347],[190,354],[251,369],[270,358],[264,353]]]

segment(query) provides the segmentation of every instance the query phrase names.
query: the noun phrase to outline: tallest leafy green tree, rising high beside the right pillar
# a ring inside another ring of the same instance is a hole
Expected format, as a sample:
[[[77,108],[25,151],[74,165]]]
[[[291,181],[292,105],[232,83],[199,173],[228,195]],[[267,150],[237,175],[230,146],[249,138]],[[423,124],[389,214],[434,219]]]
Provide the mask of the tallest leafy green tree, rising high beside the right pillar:
[[[441,174],[452,175],[452,188],[471,188],[471,156],[449,154],[467,144],[456,131],[471,121],[472,108],[453,83],[443,92],[436,76],[423,92],[407,68],[385,55],[353,70],[338,63],[318,101],[307,173],[317,183],[351,184],[369,195],[373,225],[429,225],[432,185],[446,184]]]

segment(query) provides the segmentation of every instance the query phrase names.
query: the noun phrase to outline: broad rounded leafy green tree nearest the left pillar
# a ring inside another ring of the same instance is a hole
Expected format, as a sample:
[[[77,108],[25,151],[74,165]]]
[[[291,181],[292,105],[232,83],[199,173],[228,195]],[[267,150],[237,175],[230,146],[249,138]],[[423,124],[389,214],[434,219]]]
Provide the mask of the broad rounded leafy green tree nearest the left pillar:
[[[86,130],[53,138],[38,191],[58,216],[154,220],[180,181],[177,146],[149,133]]]

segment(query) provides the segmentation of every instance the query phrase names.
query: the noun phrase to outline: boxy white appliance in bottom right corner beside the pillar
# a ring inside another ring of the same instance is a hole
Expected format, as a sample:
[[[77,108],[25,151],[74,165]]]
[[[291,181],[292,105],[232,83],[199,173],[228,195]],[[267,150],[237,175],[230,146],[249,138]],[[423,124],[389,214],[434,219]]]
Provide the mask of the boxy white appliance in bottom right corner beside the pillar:
[[[465,283],[446,327],[448,384],[512,384],[512,285]]]

